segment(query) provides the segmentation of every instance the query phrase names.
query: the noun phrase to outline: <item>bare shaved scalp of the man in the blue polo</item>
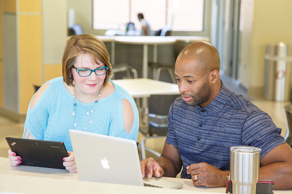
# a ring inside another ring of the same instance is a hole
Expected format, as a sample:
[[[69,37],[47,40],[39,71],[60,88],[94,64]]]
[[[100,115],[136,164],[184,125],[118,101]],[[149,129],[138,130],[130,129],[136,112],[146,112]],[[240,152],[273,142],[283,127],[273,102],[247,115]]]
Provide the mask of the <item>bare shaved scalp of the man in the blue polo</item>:
[[[217,49],[208,42],[196,41],[188,44],[180,52],[178,59],[181,58],[196,59],[200,62],[200,69],[205,69],[207,72],[220,68],[220,58]]]

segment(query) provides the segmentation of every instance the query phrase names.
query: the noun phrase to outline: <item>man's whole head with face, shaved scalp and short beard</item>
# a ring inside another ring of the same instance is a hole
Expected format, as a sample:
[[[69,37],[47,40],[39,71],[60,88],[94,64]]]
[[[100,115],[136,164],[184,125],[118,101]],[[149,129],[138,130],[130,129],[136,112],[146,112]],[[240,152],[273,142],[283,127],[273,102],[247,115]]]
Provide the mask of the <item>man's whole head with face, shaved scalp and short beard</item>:
[[[183,48],[174,75],[187,105],[204,108],[217,97],[221,89],[219,68],[219,53],[210,43],[197,41]]]

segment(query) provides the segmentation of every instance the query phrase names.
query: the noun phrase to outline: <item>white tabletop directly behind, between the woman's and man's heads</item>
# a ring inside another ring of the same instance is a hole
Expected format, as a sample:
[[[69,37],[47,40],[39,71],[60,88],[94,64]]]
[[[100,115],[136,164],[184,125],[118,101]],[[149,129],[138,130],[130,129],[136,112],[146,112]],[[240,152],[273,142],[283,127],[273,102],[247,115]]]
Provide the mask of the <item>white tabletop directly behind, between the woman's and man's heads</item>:
[[[128,93],[136,97],[150,97],[151,95],[176,95],[180,94],[177,84],[156,81],[148,78],[112,80]]]

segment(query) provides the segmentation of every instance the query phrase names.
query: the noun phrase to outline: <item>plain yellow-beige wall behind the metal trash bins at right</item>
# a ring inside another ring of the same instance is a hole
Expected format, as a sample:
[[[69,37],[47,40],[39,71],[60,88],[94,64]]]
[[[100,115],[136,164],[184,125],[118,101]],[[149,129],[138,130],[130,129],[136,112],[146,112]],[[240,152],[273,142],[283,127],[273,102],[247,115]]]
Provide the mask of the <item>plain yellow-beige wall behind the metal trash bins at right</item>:
[[[292,0],[254,0],[251,47],[244,50],[249,49],[251,56],[249,64],[251,94],[263,90],[266,45],[292,43],[291,8]]]

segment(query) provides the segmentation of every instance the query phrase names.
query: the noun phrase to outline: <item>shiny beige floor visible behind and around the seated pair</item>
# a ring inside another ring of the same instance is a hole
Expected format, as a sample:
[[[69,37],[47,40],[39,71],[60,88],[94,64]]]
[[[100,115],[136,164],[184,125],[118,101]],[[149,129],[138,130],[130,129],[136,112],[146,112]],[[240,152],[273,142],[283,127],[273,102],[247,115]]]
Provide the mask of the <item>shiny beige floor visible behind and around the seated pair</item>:
[[[240,90],[237,85],[232,85],[232,82],[225,81],[225,79],[221,78],[224,84],[228,88],[234,88],[237,90],[236,92],[241,93],[241,95],[246,96],[247,94],[244,91]],[[232,90],[232,89],[231,89]],[[263,99],[255,99],[252,97],[247,98],[251,99],[251,101],[258,106],[261,110],[267,112],[272,117],[274,123],[277,127],[282,128],[282,136],[286,134],[286,120],[283,107],[284,105],[288,104],[289,102],[274,102],[268,101]],[[0,116],[0,157],[7,157],[7,150],[9,149],[5,137],[21,137],[23,131],[23,123],[15,123],[9,119]],[[143,137],[142,133],[138,134],[138,141],[141,142]],[[149,139],[146,141],[146,146],[149,148],[153,148],[158,152],[162,152],[164,146],[165,138],[156,138],[156,139]],[[150,157],[149,153],[146,153],[146,157]],[[156,158],[154,156],[154,158]]]

